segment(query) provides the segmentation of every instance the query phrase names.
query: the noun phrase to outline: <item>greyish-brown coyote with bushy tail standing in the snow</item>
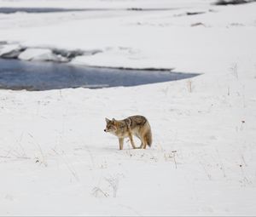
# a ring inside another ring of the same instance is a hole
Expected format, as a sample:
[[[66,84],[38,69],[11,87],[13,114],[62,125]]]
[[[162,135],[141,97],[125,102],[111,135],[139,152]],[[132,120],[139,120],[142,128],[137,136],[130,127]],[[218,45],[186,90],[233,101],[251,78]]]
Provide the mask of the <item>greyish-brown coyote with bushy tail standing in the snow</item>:
[[[150,147],[152,144],[151,128],[146,117],[143,116],[131,116],[124,120],[109,120],[105,118],[107,126],[104,129],[106,133],[111,133],[119,138],[119,150],[123,149],[124,139],[129,137],[132,148],[137,148],[132,139],[132,134],[137,136],[142,141],[139,148],[145,149],[147,145]]]

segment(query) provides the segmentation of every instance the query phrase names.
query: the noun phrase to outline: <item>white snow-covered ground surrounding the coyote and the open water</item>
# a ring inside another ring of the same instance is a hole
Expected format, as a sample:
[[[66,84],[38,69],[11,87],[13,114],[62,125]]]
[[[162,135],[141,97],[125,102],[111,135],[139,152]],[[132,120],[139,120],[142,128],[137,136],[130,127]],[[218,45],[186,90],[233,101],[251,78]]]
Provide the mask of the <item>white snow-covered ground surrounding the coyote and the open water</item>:
[[[0,90],[1,215],[256,214],[256,3],[211,3],[0,0],[108,9],[0,14],[0,54],[101,50],[71,64],[202,73],[131,88]],[[119,151],[104,118],[135,114],[148,117],[153,146]]]

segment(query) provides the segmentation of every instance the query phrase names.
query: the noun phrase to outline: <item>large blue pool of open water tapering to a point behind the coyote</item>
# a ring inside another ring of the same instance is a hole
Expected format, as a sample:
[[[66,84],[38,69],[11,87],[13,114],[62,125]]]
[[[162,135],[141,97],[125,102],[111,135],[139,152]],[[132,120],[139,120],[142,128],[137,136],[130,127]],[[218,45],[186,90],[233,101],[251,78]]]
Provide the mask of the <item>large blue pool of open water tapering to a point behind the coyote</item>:
[[[196,73],[121,70],[71,66],[54,62],[0,59],[0,89],[49,90],[66,88],[108,88],[162,83],[195,77]]]

